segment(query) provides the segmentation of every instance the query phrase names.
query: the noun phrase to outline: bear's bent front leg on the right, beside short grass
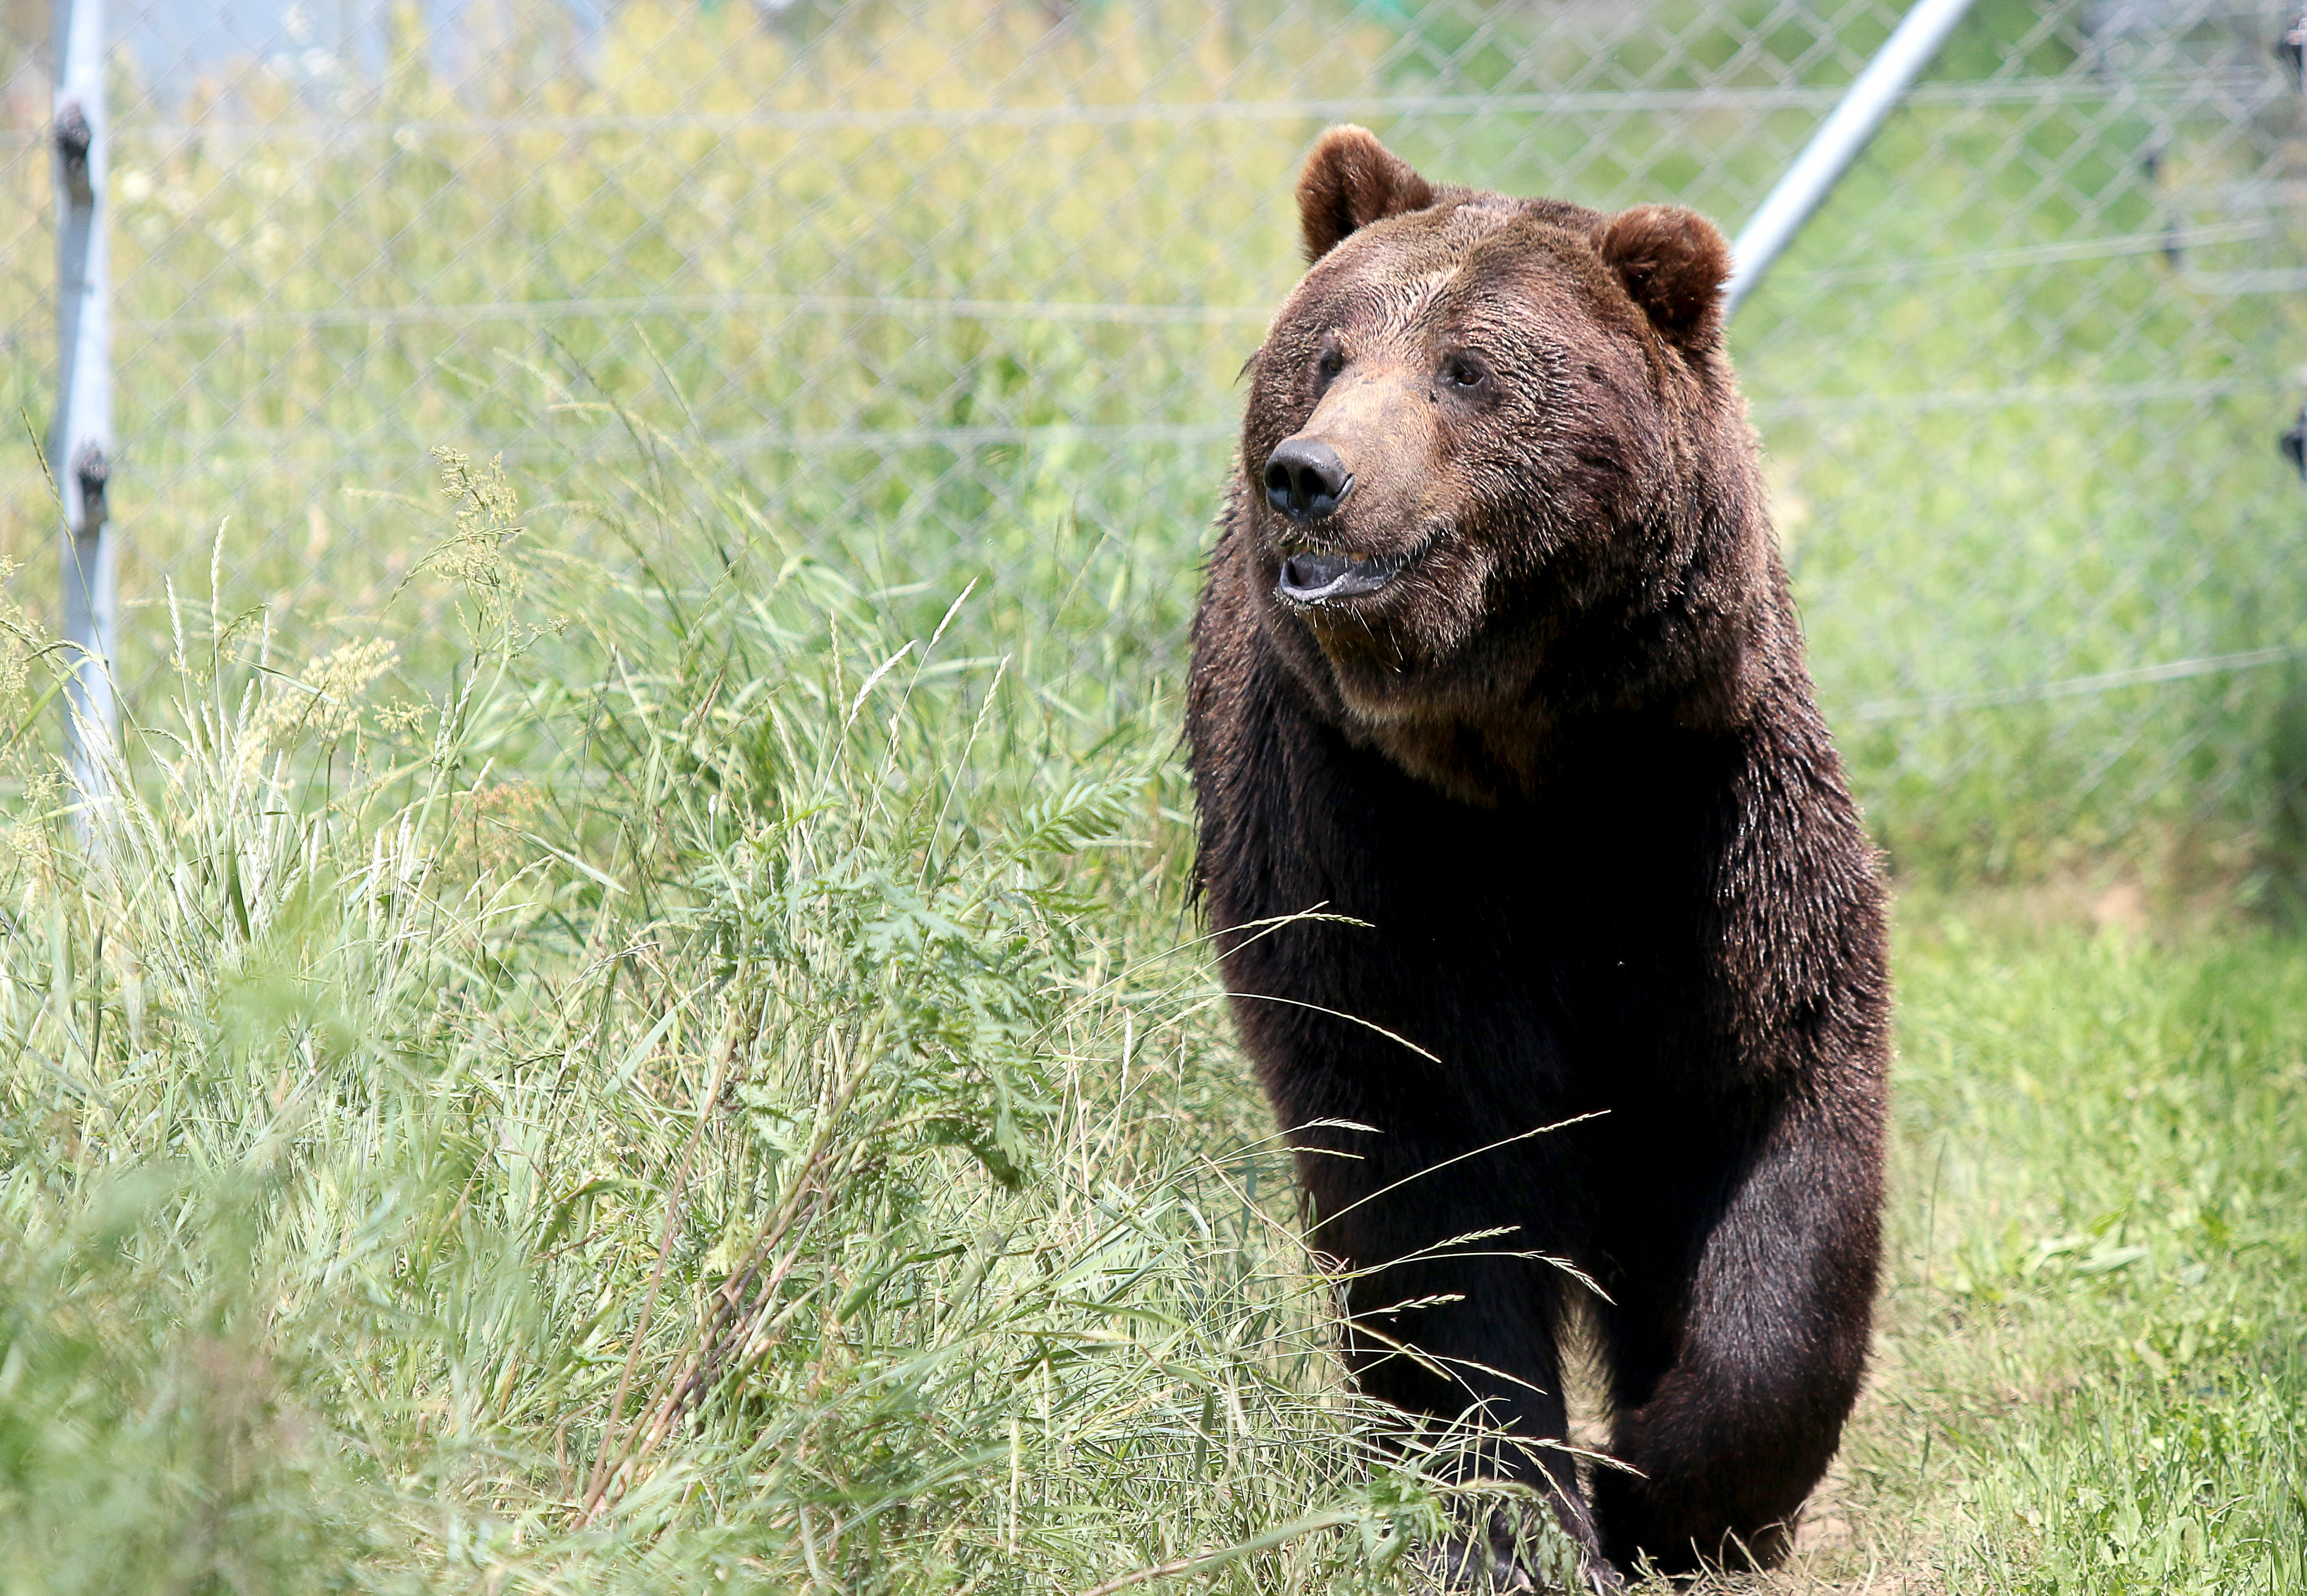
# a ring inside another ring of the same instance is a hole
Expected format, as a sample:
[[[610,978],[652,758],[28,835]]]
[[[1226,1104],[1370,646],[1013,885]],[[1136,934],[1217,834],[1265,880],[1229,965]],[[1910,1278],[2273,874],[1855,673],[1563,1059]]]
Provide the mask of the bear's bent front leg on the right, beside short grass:
[[[1813,1079],[1712,1169],[1686,1165],[1682,1225],[1650,1213],[1666,1222],[1645,1262],[1663,1271],[1631,1278],[1603,1315],[1613,1451],[1640,1474],[1596,1471],[1594,1515],[1624,1568],[1776,1564],[1834,1455],[1880,1252],[1878,1100],[1850,1086]]]

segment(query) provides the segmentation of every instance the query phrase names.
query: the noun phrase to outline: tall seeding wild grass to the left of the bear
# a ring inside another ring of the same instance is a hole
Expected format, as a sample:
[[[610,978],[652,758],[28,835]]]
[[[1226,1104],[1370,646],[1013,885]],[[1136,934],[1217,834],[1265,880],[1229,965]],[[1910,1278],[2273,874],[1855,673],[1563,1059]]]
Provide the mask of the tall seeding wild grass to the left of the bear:
[[[1170,948],[1165,743],[741,505],[634,581],[443,477],[452,673],[178,595],[88,849],[9,816],[7,1587],[1384,1582],[1440,1497]]]

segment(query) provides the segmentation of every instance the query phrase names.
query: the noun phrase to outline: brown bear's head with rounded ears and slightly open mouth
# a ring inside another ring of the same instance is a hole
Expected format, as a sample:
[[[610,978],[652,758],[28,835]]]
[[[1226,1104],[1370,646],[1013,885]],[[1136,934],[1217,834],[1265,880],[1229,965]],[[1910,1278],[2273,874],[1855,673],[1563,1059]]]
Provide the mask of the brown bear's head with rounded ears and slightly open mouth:
[[[1580,713],[1735,717],[1781,579],[1721,233],[1430,185],[1359,127],[1315,145],[1299,221],[1237,494],[1292,673],[1474,800]]]

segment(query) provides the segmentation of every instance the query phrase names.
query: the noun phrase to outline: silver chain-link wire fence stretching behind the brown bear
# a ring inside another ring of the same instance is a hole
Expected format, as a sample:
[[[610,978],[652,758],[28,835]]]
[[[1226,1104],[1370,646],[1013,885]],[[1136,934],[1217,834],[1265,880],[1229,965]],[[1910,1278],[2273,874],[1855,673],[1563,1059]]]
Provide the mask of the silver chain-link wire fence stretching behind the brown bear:
[[[0,381],[37,434],[48,23],[5,14]],[[651,466],[632,417],[891,602],[990,574],[1017,646],[1142,694],[1179,662],[1324,125],[1735,228],[1899,14],[115,5],[127,701],[161,579],[205,593],[219,524],[228,602],[358,630],[411,537],[346,487],[422,494],[457,443],[549,496],[570,461]],[[1733,328],[1813,667],[1903,869],[2235,883],[2307,856],[2284,23],[1982,0]],[[53,510],[32,445],[7,461],[0,556],[37,604]]]

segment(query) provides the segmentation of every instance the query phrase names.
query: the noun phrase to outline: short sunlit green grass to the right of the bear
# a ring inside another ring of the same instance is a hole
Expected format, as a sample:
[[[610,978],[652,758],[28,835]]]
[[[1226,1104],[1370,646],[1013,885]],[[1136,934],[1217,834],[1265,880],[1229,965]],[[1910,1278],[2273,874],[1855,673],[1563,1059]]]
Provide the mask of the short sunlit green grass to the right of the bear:
[[[2307,1589],[2307,962],[1910,911],[1892,1285],[1813,1571]]]

